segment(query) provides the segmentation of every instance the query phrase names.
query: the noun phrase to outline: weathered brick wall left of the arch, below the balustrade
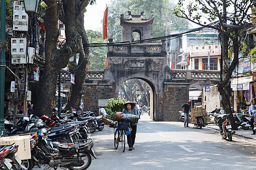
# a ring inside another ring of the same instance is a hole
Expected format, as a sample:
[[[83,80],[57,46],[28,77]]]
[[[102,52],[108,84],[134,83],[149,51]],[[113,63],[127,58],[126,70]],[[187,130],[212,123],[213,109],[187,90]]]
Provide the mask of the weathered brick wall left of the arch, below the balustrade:
[[[92,107],[98,110],[98,99],[109,99],[116,97],[112,92],[112,85],[109,84],[85,84],[83,90],[84,110]]]

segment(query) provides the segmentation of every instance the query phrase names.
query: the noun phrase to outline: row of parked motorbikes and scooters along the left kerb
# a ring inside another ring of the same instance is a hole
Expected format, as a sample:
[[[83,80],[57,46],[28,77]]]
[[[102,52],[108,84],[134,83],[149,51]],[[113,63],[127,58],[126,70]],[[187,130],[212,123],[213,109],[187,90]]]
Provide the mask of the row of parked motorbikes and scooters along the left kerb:
[[[104,108],[100,109],[100,113],[104,117],[107,115]],[[88,138],[87,133],[93,133],[96,129],[101,131],[104,128],[102,115],[95,116],[91,111],[83,112],[73,108],[62,110],[61,114],[55,112],[51,116],[24,116],[16,125],[11,119],[5,120],[6,135],[31,134],[31,159],[21,161],[19,157],[15,157],[17,161],[13,158],[14,160],[11,159],[12,162],[8,163],[6,158],[9,158],[9,153],[15,152],[12,151],[13,148],[18,150],[18,145],[2,145],[0,169],[32,169],[34,165],[41,167],[41,164],[48,164],[55,169],[58,166],[87,169],[91,164],[91,156],[96,158],[92,149],[93,141]]]

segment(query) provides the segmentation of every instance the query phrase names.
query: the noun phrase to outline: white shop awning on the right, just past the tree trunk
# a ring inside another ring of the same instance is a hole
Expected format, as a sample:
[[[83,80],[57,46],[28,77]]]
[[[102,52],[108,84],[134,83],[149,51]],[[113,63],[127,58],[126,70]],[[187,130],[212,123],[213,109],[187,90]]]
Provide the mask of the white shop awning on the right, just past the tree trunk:
[[[250,89],[250,81],[252,81],[252,76],[234,78],[231,80],[231,88],[233,90],[248,90]]]

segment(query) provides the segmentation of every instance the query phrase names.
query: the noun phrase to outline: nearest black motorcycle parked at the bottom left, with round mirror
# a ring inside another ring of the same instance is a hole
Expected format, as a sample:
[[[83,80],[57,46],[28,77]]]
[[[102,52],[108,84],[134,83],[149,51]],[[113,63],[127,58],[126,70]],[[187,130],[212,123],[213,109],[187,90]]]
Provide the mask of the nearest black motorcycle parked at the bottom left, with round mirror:
[[[91,155],[96,158],[92,139],[78,140],[75,143],[52,142],[46,139],[47,133],[47,129],[39,129],[36,137],[31,140],[31,160],[39,167],[40,163],[44,163],[55,169],[61,166],[83,170],[90,166]]]

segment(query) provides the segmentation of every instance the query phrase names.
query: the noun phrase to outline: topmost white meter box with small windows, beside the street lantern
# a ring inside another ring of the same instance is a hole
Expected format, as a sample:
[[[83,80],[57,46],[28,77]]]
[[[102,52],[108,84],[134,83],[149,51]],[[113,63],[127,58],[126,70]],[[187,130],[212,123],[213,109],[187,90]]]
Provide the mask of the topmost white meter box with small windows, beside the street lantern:
[[[25,12],[25,7],[22,4],[14,4],[13,14],[13,30],[16,31],[28,31],[29,16]]]

